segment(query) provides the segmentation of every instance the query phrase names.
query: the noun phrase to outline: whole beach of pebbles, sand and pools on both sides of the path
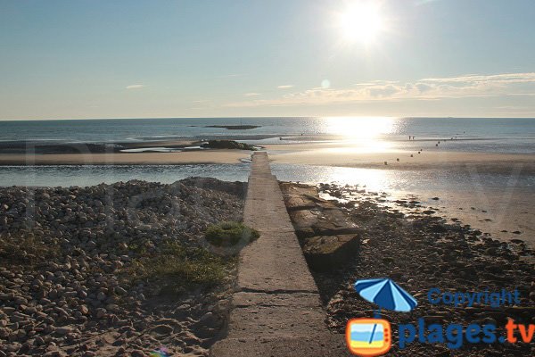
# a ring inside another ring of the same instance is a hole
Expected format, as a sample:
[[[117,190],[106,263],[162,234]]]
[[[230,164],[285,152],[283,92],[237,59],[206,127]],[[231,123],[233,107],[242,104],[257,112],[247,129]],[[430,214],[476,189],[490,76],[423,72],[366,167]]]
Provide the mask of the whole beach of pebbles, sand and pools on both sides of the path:
[[[372,311],[351,286],[369,276],[411,286],[418,301],[435,285],[523,286],[522,305],[535,298],[535,154],[463,151],[467,144],[455,140],[218,138],[267,151],[277,179],[308,183],[358,228],[354,259],[327,272],[310,268],[334,333]],[[226,334],[239,261],[210,253],[204,232],[242,220],[254,151],[201,143],[0,144],[0,351],[209,355]],[[447,273],[433,273],[435,266]],[[520,306],[459,314],[423,303],[417,316],[384,316],[394,326],[420,316],[499,325],[506,316],[530,322],[532,313]],[[428,352],[422,346],[396,353]],[[447,353],[443,345],[432,351]]]

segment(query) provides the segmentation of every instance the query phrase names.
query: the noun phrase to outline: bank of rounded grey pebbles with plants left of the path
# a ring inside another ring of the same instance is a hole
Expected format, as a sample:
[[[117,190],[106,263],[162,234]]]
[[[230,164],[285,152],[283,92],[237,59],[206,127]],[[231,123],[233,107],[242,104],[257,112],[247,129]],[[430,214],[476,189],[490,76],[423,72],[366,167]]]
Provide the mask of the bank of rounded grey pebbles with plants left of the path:
[[[244,185],[1,188],[0,356],[207,355],[235,259],[203,232],[242,219]]]

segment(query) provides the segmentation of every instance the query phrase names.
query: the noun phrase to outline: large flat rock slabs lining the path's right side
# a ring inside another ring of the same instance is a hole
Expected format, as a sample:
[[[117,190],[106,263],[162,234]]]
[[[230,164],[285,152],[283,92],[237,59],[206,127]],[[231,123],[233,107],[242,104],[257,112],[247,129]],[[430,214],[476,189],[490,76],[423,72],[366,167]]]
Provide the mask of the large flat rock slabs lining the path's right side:
[[[288,182],[280,187],[312,270],[333,270],[355,256],[359,228],[340,208],[321,199],[316,187]]]

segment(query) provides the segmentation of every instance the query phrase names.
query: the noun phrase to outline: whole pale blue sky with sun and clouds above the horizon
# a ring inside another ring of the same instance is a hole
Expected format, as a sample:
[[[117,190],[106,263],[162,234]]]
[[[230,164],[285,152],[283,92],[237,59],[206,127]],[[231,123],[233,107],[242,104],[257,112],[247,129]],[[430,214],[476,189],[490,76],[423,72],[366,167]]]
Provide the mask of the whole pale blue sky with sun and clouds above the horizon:
[[[535,117],[532,0],[0,0],[0,120]]]

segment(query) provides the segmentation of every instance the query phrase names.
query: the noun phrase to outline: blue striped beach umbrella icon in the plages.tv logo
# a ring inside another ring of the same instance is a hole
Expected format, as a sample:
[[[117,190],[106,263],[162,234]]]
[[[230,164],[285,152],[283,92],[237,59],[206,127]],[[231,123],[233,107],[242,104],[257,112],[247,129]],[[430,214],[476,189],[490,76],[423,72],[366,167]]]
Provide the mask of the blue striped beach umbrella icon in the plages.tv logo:
[[[412,295],[390,278],[358,280],[355,290],[368,302],[379,305],[380,309],[408,312],[418,304]]]

